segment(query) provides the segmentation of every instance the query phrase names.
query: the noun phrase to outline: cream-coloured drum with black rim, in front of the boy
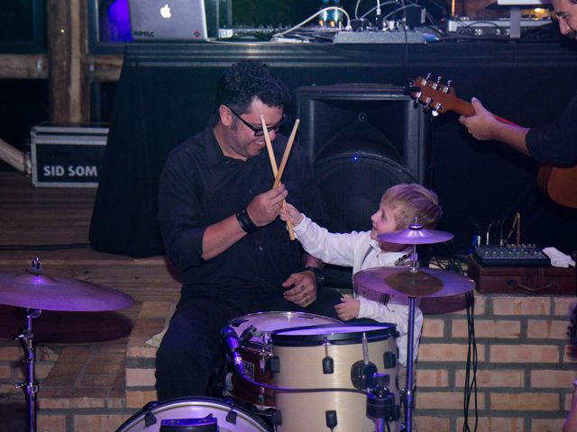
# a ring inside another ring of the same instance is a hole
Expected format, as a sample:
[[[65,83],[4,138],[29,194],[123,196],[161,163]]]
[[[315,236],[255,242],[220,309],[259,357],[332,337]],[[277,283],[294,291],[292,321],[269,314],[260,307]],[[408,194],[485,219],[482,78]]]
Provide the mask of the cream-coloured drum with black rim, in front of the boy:
[[[366,416],[367,397],[362,391],[370,385],[374,372],[389,374],[389,391],[397,393],[395,404],[399,404],[397,337],[394,324],[324,325],[272,332],[270,343],[278,365],[275,385],[312,390],[276,391],[279,432],[375,430],[373,420]],[[391,426],[390,430],[395,429]]]

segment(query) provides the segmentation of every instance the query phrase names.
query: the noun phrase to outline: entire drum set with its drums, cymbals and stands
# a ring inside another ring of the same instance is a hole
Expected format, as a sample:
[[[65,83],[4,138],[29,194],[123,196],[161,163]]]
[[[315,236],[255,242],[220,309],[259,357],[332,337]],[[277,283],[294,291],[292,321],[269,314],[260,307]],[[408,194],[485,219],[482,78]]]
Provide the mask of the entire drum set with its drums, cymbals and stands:
[[[417,299],[468,293],[472,280],[444,270],[419,268],[417,245],[447,241],[452,234],[408,229],[379,236],[412,245],[410,266],[377,267],[353,275],[359,295],[380,301],[385,294],[408,298],[408,359],[413,358]],[[0,275],[0,303],[27,310],[21,342],[28,381],[19,384],[36,430],[32,320],[41,310],[112,311],[133,299],[111,288],[43,275],[40,260],[26,273]],[[256,431],[390,432],[413,428],[413,365],[399,383],[395,324],[343,323],[304,312],[258,312],[224,328],[229,347],[224,398],[150,402],[117,432]]]

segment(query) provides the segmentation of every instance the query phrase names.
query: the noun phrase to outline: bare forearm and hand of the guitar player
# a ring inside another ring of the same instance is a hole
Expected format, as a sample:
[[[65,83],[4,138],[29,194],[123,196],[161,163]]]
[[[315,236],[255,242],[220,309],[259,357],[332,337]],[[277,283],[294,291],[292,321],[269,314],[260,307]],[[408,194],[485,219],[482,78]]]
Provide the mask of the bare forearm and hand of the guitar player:
[[[471,103],[475,108],[475,115],[471,117],[462,115],[459,121],[469,130],[469,133],[471,133],[475,139],[479,139],[480,141],[490,139],[501,141],[510,148],[515,148],[517,151],[530,156],[525,140],[529,130],[528,128],[497,120],[495,116],[487,111],[481,102],[474,97]]]

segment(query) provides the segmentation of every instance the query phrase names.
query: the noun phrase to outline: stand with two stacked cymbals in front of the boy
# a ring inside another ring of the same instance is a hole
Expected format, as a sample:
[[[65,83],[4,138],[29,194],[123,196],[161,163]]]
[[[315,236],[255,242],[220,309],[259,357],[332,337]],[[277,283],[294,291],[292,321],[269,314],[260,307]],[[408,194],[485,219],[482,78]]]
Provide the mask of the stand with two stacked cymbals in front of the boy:
[[[379,300],[382,294],[408,297],[408,344],[407,344],[407,386],[406,431],[412,430],[413,400],[413,341],[415,331],[415,301],[417,297],[446,297],[472,291],[474,283],[463,275],[430,268],[418,268],[417,245],[441,243],[453,238],[444,231],[424,229],[422,225],[409,225],[401,229],[379,234],[380,241],[413,245],[411,264],[407,267],[375,267],[361,270],[353,275],[356,293],[372,300]]]

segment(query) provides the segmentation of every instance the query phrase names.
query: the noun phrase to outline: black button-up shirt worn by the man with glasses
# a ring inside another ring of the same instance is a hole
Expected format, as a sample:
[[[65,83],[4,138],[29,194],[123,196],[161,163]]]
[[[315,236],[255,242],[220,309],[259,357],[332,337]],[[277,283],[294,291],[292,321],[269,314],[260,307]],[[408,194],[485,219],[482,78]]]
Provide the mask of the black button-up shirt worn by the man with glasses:
[[[224,156],[213,132],[215,121],[169,155],[160,176],[160,230],[169,259],[183,273],[182,302],[210,296],[250,309],[255,295],[282,295],[281,284],[303,268],[302,248],[290,241],[285,223],[277,219],[219,256],[202,258],[206,227],[246,208],[274,181],[266,149],[246,161]],[[287,138],[277,135],[272,144],[279,163]],[[324,222],[312,166],[296,143],[282,183],[289,190],[288,202]]]

